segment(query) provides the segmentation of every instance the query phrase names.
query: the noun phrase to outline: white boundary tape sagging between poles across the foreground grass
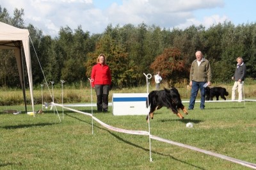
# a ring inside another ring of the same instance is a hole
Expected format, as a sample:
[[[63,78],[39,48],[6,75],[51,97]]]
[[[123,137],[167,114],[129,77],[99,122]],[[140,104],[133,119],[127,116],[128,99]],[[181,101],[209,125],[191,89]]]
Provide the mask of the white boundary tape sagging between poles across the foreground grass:
[[[71,109],[69,107],[65,107],[61,104],[54,104],[52,103],[53,105],[57,105],[59,107],[63,107],[65,109],[68,109],[70,111],[74,111],[74,112],[79,112],[81,114],[85,114],[87,116],[92,116],[92,114],[88,113],[88,112],[82,112],[82,111],[77,111],[76,109]],[[100,123],[100,125],[102,125],[103,127],[106,127],[108,128],[109,130],[113,130],[115,132],[122,132],[122,133],[125,133],[125,134],[134,134],[134,135],[149,135],[149,133],[147,131],[142,131],[142,130],[125,130],[125,129],[122,129],[122,128],[116,128],[116,127],[111,127],[110,125],[107,125],[106,123],[100,121],[99,119],[93,117],[93,120],[97,121],[98,123]],[[195,150],[195,151],[199,151],[201,153],[205,153],[207,155],[212,155],[214,157],[219,157],[219,158],[222,158],[222,159],[225,159],[225,160],[228,160],[230,162],[234,162],[236,164],[240,164],[242,166],[246,166],[246,167],[251,167],[252,169],[256,169],[256,164],[253,164],[251,162],[245,162],[243,160],[238,160],[236,158],[232,158],[232,157],[227,157],[225,155],[221,155],[221,154],[218,154],[218,153],[214,153],[212,151],[207,151],[207,150],[202,150],[200,148],[196,148],[194,146],[189,146],[187,144],[182,144],[182,143],[177,143],[177,142],[174,142],[174,141],[170,141],[170,140],[167,140],[167,139],[163,139],[161,137],[157,137],[155,135],[149,135],[151,139],[155,139],[157,141],[161,141],[161,142],[164,142],[164,143],[168,143],[168,144],[173,144],[173,145],[177,145],[177,146],[180,146],[180,147],[183,147],[183,148],[188,148],[190,150]]]

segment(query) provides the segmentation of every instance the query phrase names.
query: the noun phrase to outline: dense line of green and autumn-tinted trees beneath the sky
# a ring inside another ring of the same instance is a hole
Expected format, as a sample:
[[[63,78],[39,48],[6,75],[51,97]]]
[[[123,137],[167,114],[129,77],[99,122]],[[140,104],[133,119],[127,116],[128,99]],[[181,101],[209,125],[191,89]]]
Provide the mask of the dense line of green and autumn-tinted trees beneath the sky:
[[[113,88],[130,88],[145,84],[143,73],[157,71],[165,82],[173,84],[189,79],[189,69],[196,50],[211,63],[212,82],[230,82],[236,58],[243,57],[246,77],[256,77],[256,24],[235,26],[232,22],[186,29],[148,26],[112,26],[103,33],[91,34],[81,26],[72,30],[60,27],[58,36],[43,35],[42,30],[24,25],[24,10],[15,8],[13,17],[0,6],[0,21],[29,29],[33,83],[47,81],[68,84],[88,81],[92,66],[100,53],[106,55],[111,68]],[[20,86],[19,73],[12,50],[0,50],[0,86]],[[38,62],[39,61],[39,62]],[[25,70],[26,72],[26,70]],[[44,77],[45,75],[45,77]]]

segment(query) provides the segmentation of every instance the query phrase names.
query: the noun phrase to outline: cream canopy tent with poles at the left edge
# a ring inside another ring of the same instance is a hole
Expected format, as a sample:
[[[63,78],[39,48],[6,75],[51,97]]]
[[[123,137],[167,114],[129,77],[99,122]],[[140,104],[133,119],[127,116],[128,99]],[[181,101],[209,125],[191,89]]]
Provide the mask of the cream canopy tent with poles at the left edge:
[[[17,27],[10,26],[3,22],[0,22],[0,49],[13,49],[15,52],[15,58],[18,65],[20,83],[22,86],[25,108],[26,105],[26,93],[25,93],[25,82],[24,82],[24,70],[22,65],[22,49],[24,50],[26,65],[28,69],[28,81],[31,96],[31,104],[34,112],[34,98],[33,98],[33,79],[31,69],[31,58],[29,50],[29,31],[28,29],[20,29]]]

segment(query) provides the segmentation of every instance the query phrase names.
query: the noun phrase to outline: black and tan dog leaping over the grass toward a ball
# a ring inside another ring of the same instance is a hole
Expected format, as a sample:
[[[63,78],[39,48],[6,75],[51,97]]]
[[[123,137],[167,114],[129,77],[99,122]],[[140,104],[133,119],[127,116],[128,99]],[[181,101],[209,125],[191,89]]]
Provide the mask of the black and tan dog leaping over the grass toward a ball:
[[[154,117],[154,111],[161,109],[161,107],[167,107],[168,109],[171,109],[172,112],[177,114],[177,116],[179,116],[181,119],[183,119],[184,116],[180,114],[178,109],[182,109],[185,114],[188,114],[188,111],[181,102],[179,91],[174,87],[171,89],[164,88],[158,91],[151,91],[148,94],[146,105],[147,108],[150,106],[148,116],[150,116],[152,119]],[[148,116],[146,118],[147,122]]]

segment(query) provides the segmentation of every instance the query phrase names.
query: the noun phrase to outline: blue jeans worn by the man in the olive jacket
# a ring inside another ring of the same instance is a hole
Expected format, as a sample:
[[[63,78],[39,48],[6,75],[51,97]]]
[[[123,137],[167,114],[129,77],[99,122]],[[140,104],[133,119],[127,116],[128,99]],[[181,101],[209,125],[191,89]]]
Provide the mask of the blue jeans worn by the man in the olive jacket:
[[[204,103],[205,103],[205,88],[204,88],[205,82],[196,82],[192,81],[192,88],[191,88],[191,96],[189,100],[189,109],[194,109],[196,95],[198,93],[198,90],[200,89],[201,93],[201,102],[200,102],[200,108],[204,109]]]

